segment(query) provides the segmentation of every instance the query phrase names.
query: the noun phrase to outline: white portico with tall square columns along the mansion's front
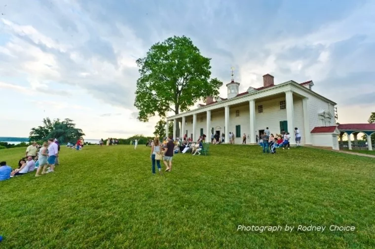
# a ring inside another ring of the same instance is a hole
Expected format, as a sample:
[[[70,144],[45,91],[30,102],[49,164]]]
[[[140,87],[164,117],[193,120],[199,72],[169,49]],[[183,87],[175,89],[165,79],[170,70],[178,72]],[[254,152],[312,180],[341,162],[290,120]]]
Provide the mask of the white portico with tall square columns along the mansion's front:
[[[311,136],[310,136],[310,129],[309,129],[309,113],[308,113],[308,105],[309,105],[309,98],[308,94],[306,94],[305,91],[308,91],[305,87],[300,86],[297,82],[294,81],[288,81],[279,85],[274,85],[271,88],[265,88],[258,91],[250,91],[246,94],[240,94],[234,98],[231,99],[220,99],[216,102],[212,103],[206,103],[206,105],[201,105],[199,108],[190,110],[184,113],[179,113],[174,116],[167,117],[166,121],[167,123],[169,121],[173,121],[173,138],[176,139],[177,137],[181,136],[183,137],[186,134],[186,125],[187,123],[190,126],[191,121],[191,136],[192,140],[196,141],[198,139],[198,132],[197,132],[197,117],[199,117],[200,122],[202,122],[202,118],[205,119],[206,124],[205,127],[202,128],[202,124],[200,125],[200,130],[204,130],[204,134],[206,136],[211,135],[212,126],[211,126],[211,120],[212,120],[212,113],[215,112],[221,112],[223,117],[223,123],[219,125],[221,128],[224,128],[224,134],[225,134],[225,143],[228,143],[229,140],[227,139],[229,137],[229,128],[231,123],[230,114],[233,115],[233,113],[230,113],[230,109],[232,107],[236,106],[242,106],[245,107],[248,110],[249,117],[248,121],[246,121],[247,125],[245,133],[249,136],[250,144],[256,144],[256,136],[257,136],[257,118],[256,118],[256,109],[258,111],[258,108],[256,108],[256,105],[259,101],[263,101],[267,98],[278,98],[282,97],[285,100],[285,111],[286,111],[286,117],[284,120],[287,120],[287,129],[289,132],[293,134],[294,127],[296,125],[295,123],[295,107],[294,107],[294,99],[299,98],[302,102],[302,115],[303,115],[303,131],[304,131],[304,139],[305,144],[311,144]],[[310,91],[309,94],[312,92]],[[336,103],[333,103],[336,104]],[[180,134],[178,134],[178,126],[180,126],[181,123],[181,129]],[[279,121],[277,121],[277,126],[279,126]],[[214,124],[214,127],[218,127],[218,125]],[[265,129],[265,127],[263,127]],[[166,134],[168,133],[168,125],[166,126]],[[191,137],[188,136],[188,137]],[[206,142],[211,142],[211,139],[207,139]],[[292,135],[290,143],[292,145],[296,144],[295,138]]]

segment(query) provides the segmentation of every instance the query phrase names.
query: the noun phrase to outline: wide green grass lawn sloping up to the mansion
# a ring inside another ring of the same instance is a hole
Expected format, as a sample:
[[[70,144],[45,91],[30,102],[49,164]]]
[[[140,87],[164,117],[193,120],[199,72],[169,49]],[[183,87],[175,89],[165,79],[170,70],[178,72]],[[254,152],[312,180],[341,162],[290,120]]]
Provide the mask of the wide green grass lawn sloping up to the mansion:
[[[23,154],[3,149],[0,160],[14,167]],[[171,173],[152,176],[149,155],[144,145],[62,148],[56,173],[0,182],[0,248],[375,248],[373,158],[211,145],[210,156],[177,154]],[[259,233],[240,224],[356,230]]]

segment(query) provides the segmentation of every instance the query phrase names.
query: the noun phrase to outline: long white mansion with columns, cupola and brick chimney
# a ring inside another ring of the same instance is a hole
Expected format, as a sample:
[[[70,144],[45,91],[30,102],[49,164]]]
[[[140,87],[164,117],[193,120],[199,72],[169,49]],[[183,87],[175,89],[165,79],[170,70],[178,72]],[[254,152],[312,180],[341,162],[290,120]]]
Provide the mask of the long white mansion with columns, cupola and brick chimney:
[[[240,83],[232,80],[226,84],[228,96],[216,101],[207,97],[206,105],[197,109],[167,117],[173,120],[173,137],[183,131],[193,141],[205,134],[211,142],[211,134],[225,134],[229,142],[229,132],[234,133],[235,143],[242,143],[246,134],[247,143],[256,143],[256,136],[266,127],[274,135],[285,130],[291,134],[291,145],[295,144],[294,128],[298,127],[301,144],[323,145],[338,148],[338,131],[316,134],[315,127],[335,126],[336,103],[312,91],[312,81],[297,83],[293,80],[274,84],[273,76],[263,75],[263,87],[249,87],[239,93]],[[168,134],[168,125],[166,126]]]

